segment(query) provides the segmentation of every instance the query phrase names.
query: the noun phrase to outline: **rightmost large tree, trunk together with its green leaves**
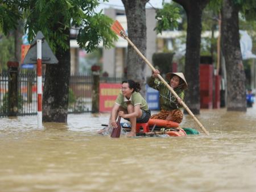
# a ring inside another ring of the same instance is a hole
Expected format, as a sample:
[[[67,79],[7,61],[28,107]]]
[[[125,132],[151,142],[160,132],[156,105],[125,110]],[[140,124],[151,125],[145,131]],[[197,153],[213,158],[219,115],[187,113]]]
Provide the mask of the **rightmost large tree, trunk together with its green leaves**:
[[[225,59],[227,74],[228,111],[246,111],[245,70],[240,49],[239,14],[246,20],[254,20],[256,2],[254,0],[212,0],[210,6],[221,9],[221,49]]]

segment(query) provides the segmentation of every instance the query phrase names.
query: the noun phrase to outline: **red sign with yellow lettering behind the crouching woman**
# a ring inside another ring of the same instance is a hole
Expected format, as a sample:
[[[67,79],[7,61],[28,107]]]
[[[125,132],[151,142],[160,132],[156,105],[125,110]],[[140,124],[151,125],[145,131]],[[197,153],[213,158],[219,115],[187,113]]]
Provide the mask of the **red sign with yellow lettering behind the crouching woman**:
[[[121,84],[100,84],[100,112],[111,111],[119,93]]]

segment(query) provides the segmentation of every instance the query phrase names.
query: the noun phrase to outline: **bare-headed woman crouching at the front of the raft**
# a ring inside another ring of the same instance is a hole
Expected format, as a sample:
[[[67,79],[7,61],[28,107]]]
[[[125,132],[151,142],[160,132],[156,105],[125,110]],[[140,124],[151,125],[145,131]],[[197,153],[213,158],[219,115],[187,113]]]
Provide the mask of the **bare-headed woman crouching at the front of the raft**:
[[[119,93],[111,111],[109,126],[117,127],[115,120],[117,115],[129,120],[131,123],[131,132],[127,136],[136,136],[136,123],[147,123],[151,112],[146,100],[139,93],[141,85],[133,80],[122,82],[122,93]],[[108,130],[100,130],[102,133]]]

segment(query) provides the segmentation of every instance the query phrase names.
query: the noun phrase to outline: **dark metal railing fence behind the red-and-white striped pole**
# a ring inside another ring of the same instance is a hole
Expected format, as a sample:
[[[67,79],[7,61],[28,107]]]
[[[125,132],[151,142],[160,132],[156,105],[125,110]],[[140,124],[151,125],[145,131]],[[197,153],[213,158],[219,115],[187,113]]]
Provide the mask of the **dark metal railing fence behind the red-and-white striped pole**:
[[[37,114],[37,75],[34,70],[18,72],[18,114]],[[100,82],[121,82],[123,78],[101,77]],[[0,116],[8,115],[8,82],[7,71],[0,73]],[[44,83],[44,74],[42,76]],[[69,82],[68,113],[75,114],[92,111],[92,74],[72,74]]]

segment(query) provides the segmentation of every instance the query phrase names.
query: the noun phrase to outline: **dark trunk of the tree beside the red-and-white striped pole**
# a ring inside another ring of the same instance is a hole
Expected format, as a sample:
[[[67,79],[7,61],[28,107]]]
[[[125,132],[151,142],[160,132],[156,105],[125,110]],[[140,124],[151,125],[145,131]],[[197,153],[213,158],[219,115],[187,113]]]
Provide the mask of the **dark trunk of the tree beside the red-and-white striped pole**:
[[[66,29],[64,34],[69,36],[69,29]],[[66,40],[68,45],[69,40],[68,37]],[[67,123],[71,70],[70,47],[65,51],[57,48],[55,55],[59,64],[46,65],[43,91],[43,122]]]

